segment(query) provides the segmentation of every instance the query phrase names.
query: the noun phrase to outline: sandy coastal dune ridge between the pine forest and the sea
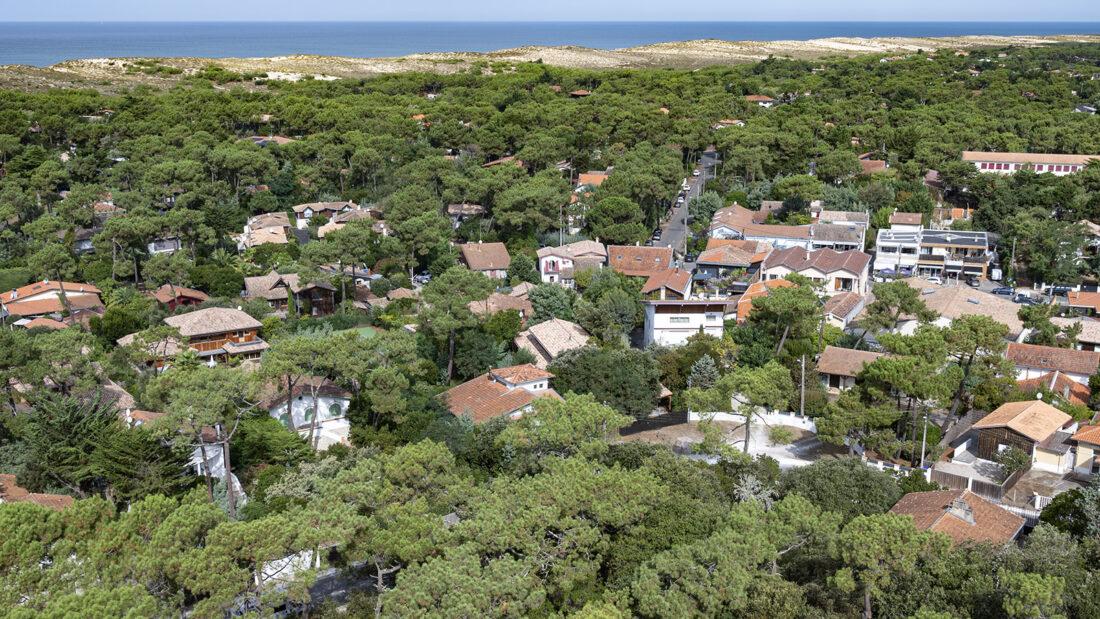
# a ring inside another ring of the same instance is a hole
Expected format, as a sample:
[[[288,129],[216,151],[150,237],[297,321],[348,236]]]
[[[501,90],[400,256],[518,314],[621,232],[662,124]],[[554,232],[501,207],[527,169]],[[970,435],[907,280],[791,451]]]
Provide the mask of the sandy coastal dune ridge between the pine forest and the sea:
[[[0,87],[23,89],[112,86],[170,86],[180,78],[215,65],[241,74],[266,74],[266,79],[298,80],[362,78],[400,71],[450,74],[476,63],[531,63],[582,69],[679,68],[733,65],[768,57],[814,59],[828,56],[908,54],[917,51],[1038,46],[1055,43],[1094,43],[1100,34],[966,35],[943,37],[849,37],[806,41],[694,41],[653,43],[616,49],[575,45],[521,46],[495,52],[432,52],[395,57],[349,57],[292,54],[272,57],[120,57],[65,60],[48,67],[0,66]],[[143,70],[153,64],[161,71]],[[144,65],[144,66],[143,66]]]

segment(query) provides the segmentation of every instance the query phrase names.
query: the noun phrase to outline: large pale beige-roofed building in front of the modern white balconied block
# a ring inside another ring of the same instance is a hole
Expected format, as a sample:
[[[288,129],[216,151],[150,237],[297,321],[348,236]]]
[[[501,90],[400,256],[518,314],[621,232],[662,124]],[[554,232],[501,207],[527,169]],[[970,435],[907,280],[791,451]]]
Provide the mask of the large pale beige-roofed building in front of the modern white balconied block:
[[[932,311],[939,314],[932,321],[936,327],[948,327],[956,318],[964,316],[986,316],[1009,328],[1007,339],[1015,342],[1023,333],[1024,323],[1020,320],[1020,306],[1011,300],[970,288],[968,286],[941,286],[917,279],[905,278],[911,287],[921,291],[921,300]],[[897,330],[904,335],[912,335],[917,328],[914,317],[903,316],[898,321]]]

